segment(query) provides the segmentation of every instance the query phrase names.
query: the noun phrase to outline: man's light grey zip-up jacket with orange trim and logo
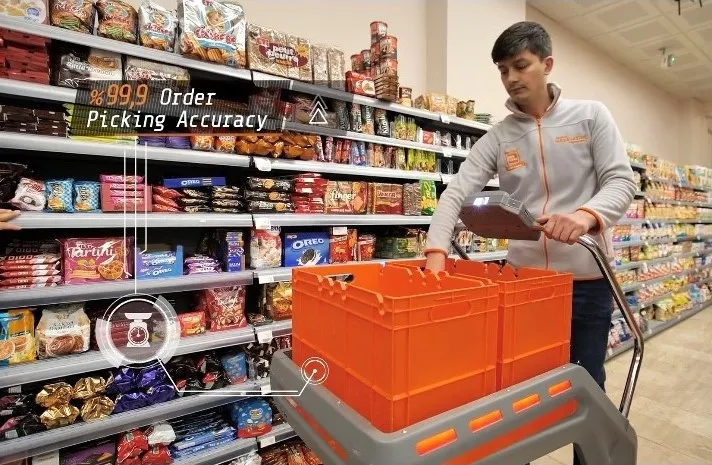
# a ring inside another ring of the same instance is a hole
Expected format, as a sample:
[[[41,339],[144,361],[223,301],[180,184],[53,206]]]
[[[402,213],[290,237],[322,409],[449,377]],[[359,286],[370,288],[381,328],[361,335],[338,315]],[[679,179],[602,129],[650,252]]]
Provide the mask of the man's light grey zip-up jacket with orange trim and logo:
[[[521,200],[534,216],[584,210],[598,225],[592,234],[609,260],[609,228],[625,214],[637,186],[625,143],[600,102],[560,97],[537,120],[507,101],[512,112],[472,147],[438,202],[428,231],[426,254],[446,253],[465,197],[484,188],[495,174],[500,189]],[[547,239],[510,241],[507,260],[515,267],[552,269],[595,279],[601,272],[583,246]]]

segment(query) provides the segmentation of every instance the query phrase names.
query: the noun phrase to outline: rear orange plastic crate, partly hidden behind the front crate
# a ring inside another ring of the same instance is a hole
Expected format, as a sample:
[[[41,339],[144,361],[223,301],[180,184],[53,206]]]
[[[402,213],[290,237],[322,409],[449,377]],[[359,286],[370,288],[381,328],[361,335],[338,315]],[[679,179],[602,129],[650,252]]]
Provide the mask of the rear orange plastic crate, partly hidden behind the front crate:
[[[397,263],[425,266],[425,260]],[[461,259],[448,259],[446,271],[499,285],[498,390],[569,362],[572,274]]]

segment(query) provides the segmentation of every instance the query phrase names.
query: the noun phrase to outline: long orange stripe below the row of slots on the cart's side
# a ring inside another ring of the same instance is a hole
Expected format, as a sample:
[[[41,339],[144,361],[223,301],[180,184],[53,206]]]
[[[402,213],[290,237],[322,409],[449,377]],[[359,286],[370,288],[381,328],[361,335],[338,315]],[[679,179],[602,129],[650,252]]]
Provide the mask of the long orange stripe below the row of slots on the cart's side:
[[[442,465],[470,465],[478,460],[494,455],[511,445],[551,428],[557,423],[561,423],[566,418],[576,413],[578,406],[579,403],[577,400],[570,400],[506,434],[482,444],[481,446],[477,446],[464,454],[460,454],[453,459],[446,460],[442,463]]]

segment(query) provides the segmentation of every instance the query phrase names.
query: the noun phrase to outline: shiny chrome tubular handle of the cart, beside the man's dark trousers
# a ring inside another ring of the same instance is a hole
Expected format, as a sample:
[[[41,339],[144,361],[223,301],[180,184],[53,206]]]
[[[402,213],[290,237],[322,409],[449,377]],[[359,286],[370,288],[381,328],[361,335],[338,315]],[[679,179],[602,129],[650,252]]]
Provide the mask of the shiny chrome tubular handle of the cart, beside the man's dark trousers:
[[[620,412],[627,418],[630,413],[631,404],[633,403],[633,394],[635,393],[635,386],[638,383],[638,375],[640,374],[640,368],[643,363],[643,332],[635,322],[633,312],[630,310],[628,301],[625,298],[625,293],[618,284],[618,281],[616,281],[613,270],[611,270],[611,266],[606,260],[606,256],[601,250],[601,247],[588,234],[581,236],[577,242],[588,249],[588,251],[591,252],[591,255],[593,255],[598,268],[600,268],[601,273],[603,273],[603,277],[606,278],[606,281],[608,281],[608,287],[611,290],[611,294],[613,294],[613,299],[621,309],[623,319],[633,333],[633,360],[631,361],[630,369],[628,370],[628,379],[626,379],[625,389],[623,390],[623,396],[620,404]],[[459,244],[453,241],[452,245],[455,252],[461,258],[469,260],[467,252],[465,252]]]

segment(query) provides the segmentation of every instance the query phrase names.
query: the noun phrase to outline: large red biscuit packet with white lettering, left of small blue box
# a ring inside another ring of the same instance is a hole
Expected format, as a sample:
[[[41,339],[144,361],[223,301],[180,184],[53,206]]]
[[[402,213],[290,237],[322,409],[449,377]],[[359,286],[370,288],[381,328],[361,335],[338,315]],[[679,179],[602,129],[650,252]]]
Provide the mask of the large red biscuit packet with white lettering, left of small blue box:
[[[133,273],[132,237],[65,239],[62,270],[66,284],[128,279]]]

